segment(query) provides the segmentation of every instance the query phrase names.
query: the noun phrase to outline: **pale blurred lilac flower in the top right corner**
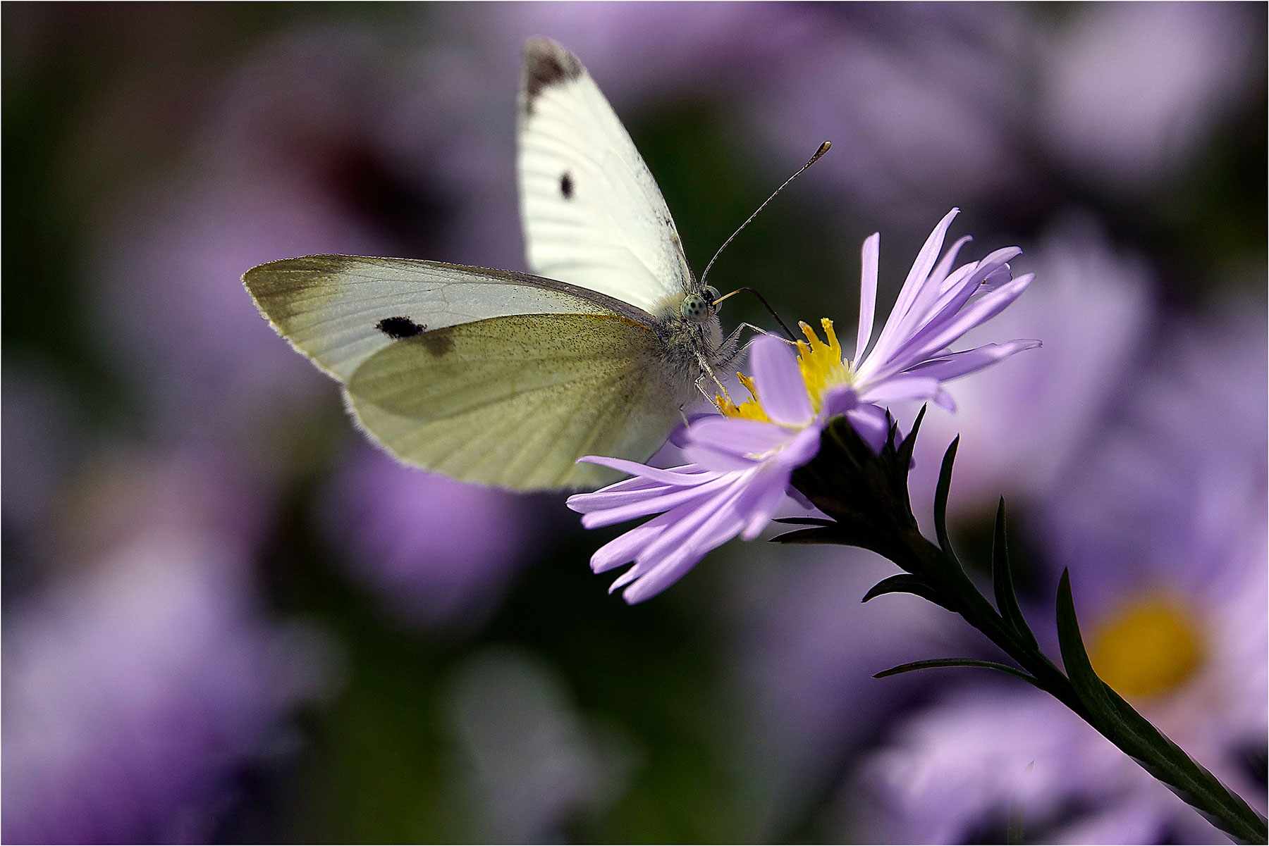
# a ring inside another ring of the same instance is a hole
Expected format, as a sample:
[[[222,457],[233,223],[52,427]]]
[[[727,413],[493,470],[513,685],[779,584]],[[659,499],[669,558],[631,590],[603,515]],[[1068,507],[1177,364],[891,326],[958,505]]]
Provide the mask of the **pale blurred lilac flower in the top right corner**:
[[[1072,8],[1036,51],[1038,133],[1080,180],[1142,192],[1187,165],[1264,79],[1264,15],[1239,4]]]

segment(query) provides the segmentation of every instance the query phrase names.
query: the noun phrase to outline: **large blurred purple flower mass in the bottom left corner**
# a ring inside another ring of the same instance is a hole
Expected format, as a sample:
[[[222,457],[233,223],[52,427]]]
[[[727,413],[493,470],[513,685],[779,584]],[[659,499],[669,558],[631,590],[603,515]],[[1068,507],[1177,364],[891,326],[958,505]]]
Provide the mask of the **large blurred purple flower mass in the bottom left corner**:
[[[327,684],[312,635],[254,606],[247,535],[216,501],[171,501],[214,500],[214,482],[157,469],[155,490],[100,491],[122,520],[84,530],[109,548],[5,615],[6,842],[206,841],[235,776],[284,753],[282,718]],[[184,496],[151,497],[173,473]],[[72,558],[96,545],[79,540]]]

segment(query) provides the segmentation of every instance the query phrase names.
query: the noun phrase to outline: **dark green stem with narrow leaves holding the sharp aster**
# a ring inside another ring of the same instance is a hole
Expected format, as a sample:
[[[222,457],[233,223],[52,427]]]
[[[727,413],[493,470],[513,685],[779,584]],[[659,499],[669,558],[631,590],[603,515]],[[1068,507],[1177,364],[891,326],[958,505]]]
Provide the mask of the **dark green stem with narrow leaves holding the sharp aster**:
[[[892,429],[881,454],[874,453],[845,420],[839,417],[832,421],[821,438],[820,454],[798,468],[792,479],[793,486],[831,520],[793,521],[806,528],[775,540],[845,544],[884,556],[905,575],[891,576],[876,585],[864,596],[865,601],[881,594],[907,592],[940,605],[978,629],[1022,671],[1004,665],[991,667],[991,662],[983,661],[937,660],[895,667],[879,675],[938,666],[986,666],[1020,676],[1079,714],[1236,842],[1266,842],[1269,832],[1264,817],[1098,679],[1084,649],[1066,573],[1062,575],[1057,600],[1057,632],[1065,672],[1041,652],[1013,592],[1004,544],[1004,502],[997,515],[996,549],[992,553],[996,606],[970,580],[947,533],[947,498],[956,441],[944,457],[935,495],[938,544],[921,534],[907,496],[907,471],[920,421],[919,416],[911,434],[897,445]]]

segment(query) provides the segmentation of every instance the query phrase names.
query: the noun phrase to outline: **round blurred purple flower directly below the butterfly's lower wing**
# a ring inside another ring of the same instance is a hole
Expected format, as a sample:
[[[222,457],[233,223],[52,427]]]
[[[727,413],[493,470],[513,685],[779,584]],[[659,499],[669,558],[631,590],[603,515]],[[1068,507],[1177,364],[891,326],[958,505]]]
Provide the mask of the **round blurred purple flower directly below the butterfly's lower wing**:
[[[321,534],[398,619],[475,627],[525,563],[534,501],[464,485],[358,445],[331,478]]]

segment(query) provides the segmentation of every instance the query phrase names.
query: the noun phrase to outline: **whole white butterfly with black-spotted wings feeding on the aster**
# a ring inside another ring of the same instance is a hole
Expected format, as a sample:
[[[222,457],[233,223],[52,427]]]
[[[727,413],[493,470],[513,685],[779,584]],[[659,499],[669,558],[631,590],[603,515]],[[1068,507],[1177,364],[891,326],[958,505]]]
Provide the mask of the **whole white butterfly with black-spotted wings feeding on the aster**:
[[[634,143],[549,41],[524,48],[518,159],[541,277],[320,255],[242,280],[401,460],[518,490],[595,487],[610,472],[574,462],[647,459],[731,344]]]

